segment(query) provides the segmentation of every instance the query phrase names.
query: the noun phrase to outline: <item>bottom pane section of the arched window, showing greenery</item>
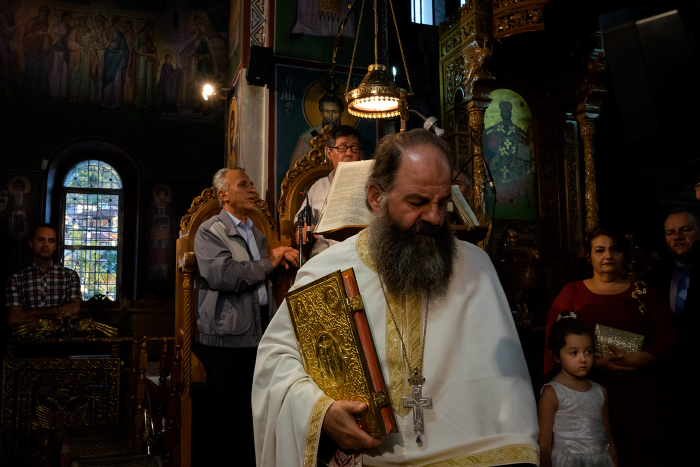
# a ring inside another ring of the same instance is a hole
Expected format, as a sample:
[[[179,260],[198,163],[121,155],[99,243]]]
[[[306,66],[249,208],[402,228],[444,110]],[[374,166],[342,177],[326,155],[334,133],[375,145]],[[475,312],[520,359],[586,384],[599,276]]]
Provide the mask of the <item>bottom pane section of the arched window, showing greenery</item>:
[[[101,293],[117,299],[117,251],[116,250],[68,250],[63,265],[80,276],[83,300]]]

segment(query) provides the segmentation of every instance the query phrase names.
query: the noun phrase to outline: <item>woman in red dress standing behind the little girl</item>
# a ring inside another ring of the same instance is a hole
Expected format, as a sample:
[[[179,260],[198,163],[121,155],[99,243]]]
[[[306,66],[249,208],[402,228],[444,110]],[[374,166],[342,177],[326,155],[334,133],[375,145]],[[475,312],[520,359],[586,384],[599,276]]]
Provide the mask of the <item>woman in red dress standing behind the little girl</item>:
[[[547,314],[547,335],[556,316],[570,311],[591,329],[601,324],[644,336],[639,352],[610,347],[612,354],[596,356],[589,379],[608,389],[619,465],[662,466],[669,397],[665,367],[675,346],[675,316],[656,291],[626,277],[628,250],[629,242],[619,232],[605,228],[591,232],[586,253],[593,277],[562,289]],[[635,293],[638,289],[646,293]],[[545,374],[551,370],[552,358],[545,347]]]

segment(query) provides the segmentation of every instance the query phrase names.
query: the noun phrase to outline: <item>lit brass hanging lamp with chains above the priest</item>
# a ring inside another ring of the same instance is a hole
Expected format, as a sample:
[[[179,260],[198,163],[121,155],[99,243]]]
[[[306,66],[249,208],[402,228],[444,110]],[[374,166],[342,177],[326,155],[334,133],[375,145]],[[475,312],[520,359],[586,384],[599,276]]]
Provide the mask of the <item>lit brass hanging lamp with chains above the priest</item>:
[[[353,5],[354,6],[354,1]],[[403,55],[403,47],[401,38],[398,34],[398,25],[396,24],[396,15],[394,14],[393,4],[388,0],[389,8],[391,9],[391,17],[393,19],[394,28],[396,30],[396,38],[398,39],[398,47],[401,51],[401,60],[403,61],[403,69],[406,73],[406,81],[408,82],[409,92],[400,88],[386,72],[386,67],[379,64],[377,60],[377,40],[378,40],[378,22],[377,15],[377,0],[374,0],[374,64],[367,67],[367,74],[360,82],[356,89],[345,93],[345,102],[348,104],[348,110],[353,116],[363,118],[390,118],[395,116],[401,117],[401,131],[406,129],[406,120],[408,120],[408,103],[407,97],[413,95],[411,80],[408,78],[408,68],[406,67],[406,58]],[[352,6],[350,8],[352,8]],[[353,46],[352,58],[350,61],[350,71],[348,73],[348,81],[346,90],[350,89],[350,77],[352,76],[353,62],[355,61],[355,50],[357,48],[357,39],[360,34],[360,25],[362,24],[362,13],[365,8],[365,0],[362,1],[360,7],[360,18],[358,20],[357,32],[355,34],[355,44]],[[342,26],[341,26],[342,27]],[[333,65],[335,65],[335,50],[333,53]]]

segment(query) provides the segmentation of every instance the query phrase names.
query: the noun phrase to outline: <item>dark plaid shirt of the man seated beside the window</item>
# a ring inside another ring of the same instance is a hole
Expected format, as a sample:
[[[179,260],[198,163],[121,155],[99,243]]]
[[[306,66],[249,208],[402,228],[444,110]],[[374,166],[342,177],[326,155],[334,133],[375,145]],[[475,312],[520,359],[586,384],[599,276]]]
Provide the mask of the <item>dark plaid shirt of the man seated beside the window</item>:
[[[5,306],[22,309],[58,307],[73,298],[83,298],[78,274],[67,267],[51,263],[46,274],[35,263],[10,276],[5,291]],[[73,330],[64,326],[47,337],[71,337]]]

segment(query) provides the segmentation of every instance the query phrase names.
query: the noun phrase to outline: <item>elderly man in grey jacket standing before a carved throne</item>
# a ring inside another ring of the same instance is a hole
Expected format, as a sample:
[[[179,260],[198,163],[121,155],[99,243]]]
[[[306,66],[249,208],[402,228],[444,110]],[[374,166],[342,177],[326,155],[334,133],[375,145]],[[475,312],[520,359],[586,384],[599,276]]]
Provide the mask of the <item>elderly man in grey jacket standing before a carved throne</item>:
[[[272,279],[297,266],[289,246],[267,249],[267,238],[248,216],[255,187],[244,169],[214,175],[221,213],[202,223],[195,235],[198,353],[207,371],[205,433],[209,461],[232,455],[255,466],[251,388],[255,353],[276,311]]]

